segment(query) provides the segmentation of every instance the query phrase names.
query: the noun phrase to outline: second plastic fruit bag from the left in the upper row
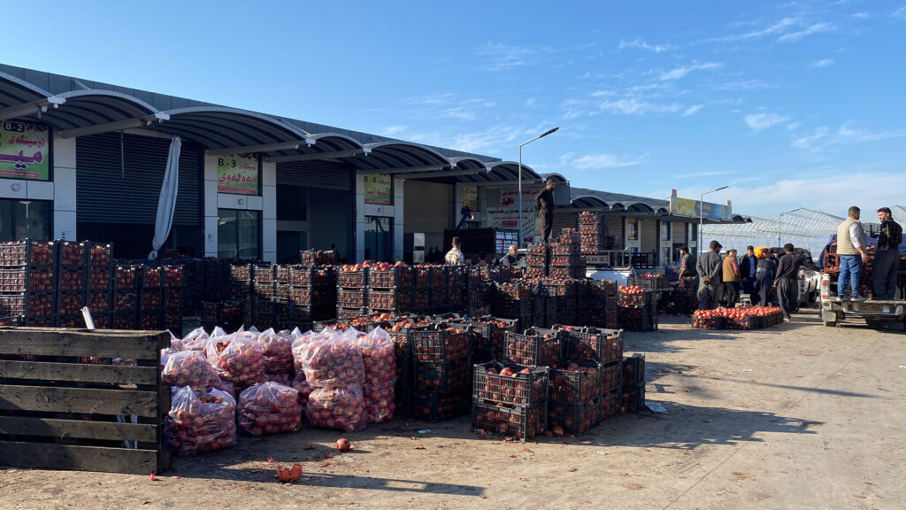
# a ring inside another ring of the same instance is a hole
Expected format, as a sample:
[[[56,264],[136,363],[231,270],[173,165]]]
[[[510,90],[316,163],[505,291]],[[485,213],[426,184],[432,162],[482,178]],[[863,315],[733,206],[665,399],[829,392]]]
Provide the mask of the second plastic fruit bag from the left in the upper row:
[[[255,335],[236,332],[227,338],[212,337],[205,353],[217,376],[237,390],[265,380],[265,357]]]

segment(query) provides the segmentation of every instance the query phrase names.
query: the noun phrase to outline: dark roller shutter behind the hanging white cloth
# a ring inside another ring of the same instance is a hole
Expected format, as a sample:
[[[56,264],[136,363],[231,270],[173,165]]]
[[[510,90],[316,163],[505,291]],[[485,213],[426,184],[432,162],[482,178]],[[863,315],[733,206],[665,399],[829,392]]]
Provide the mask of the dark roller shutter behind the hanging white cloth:
[[[76,139],[77,221],[154,224],[169,140],[126,134],[122,143],[120,160],[119,132]],[[174,225],[201,224],[201,161],[200,149],[183,142]]]

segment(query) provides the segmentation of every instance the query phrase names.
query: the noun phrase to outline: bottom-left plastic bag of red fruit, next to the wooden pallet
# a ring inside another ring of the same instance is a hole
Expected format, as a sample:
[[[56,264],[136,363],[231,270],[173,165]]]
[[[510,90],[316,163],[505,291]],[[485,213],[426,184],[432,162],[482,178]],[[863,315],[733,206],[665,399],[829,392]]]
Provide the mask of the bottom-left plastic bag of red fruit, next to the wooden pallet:
[[[180,455],[236,446],[236,400],[224,391],[179,387],[164,426],[167,446]]]

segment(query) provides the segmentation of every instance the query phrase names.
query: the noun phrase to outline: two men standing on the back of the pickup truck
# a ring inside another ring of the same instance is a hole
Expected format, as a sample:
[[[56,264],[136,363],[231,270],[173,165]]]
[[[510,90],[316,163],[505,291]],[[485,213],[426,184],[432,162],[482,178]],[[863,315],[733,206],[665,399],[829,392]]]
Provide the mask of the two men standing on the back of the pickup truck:
[[[840,259],[840,276],[837,278],[837,296],[853,301],[867,299],[859,293],[864,263],[868,260],[868,244],[865,229],[860,221],[862,211],[856,206],[849,208],[847,218],[837,226],[836,251]],[[878,210],[878,242],[872,260],[872,298],[894,299],[897,290],[897,271],[900,270],[900,244],[903,230],[893,221],[889,207]]]

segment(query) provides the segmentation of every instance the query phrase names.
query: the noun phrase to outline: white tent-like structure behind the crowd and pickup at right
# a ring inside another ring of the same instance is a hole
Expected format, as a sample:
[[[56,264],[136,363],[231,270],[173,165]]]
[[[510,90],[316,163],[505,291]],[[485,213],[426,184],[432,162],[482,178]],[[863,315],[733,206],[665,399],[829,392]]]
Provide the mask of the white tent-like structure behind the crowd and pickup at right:
[[[902,210],[901,217],[906,218],[906,209]],[[701,239],[705,246],[709,240],[718,240],[724,250],[734,248],[740,253],[749,245],[775,247],[791,242],[796,248],[811,251],[812,257],[817,259],[827,238],[836,233],[841,221],[843,218],[839,216],[800,208],[781,213],[776,220],[752,217],[751,223],[706,224],[702,227]]]

